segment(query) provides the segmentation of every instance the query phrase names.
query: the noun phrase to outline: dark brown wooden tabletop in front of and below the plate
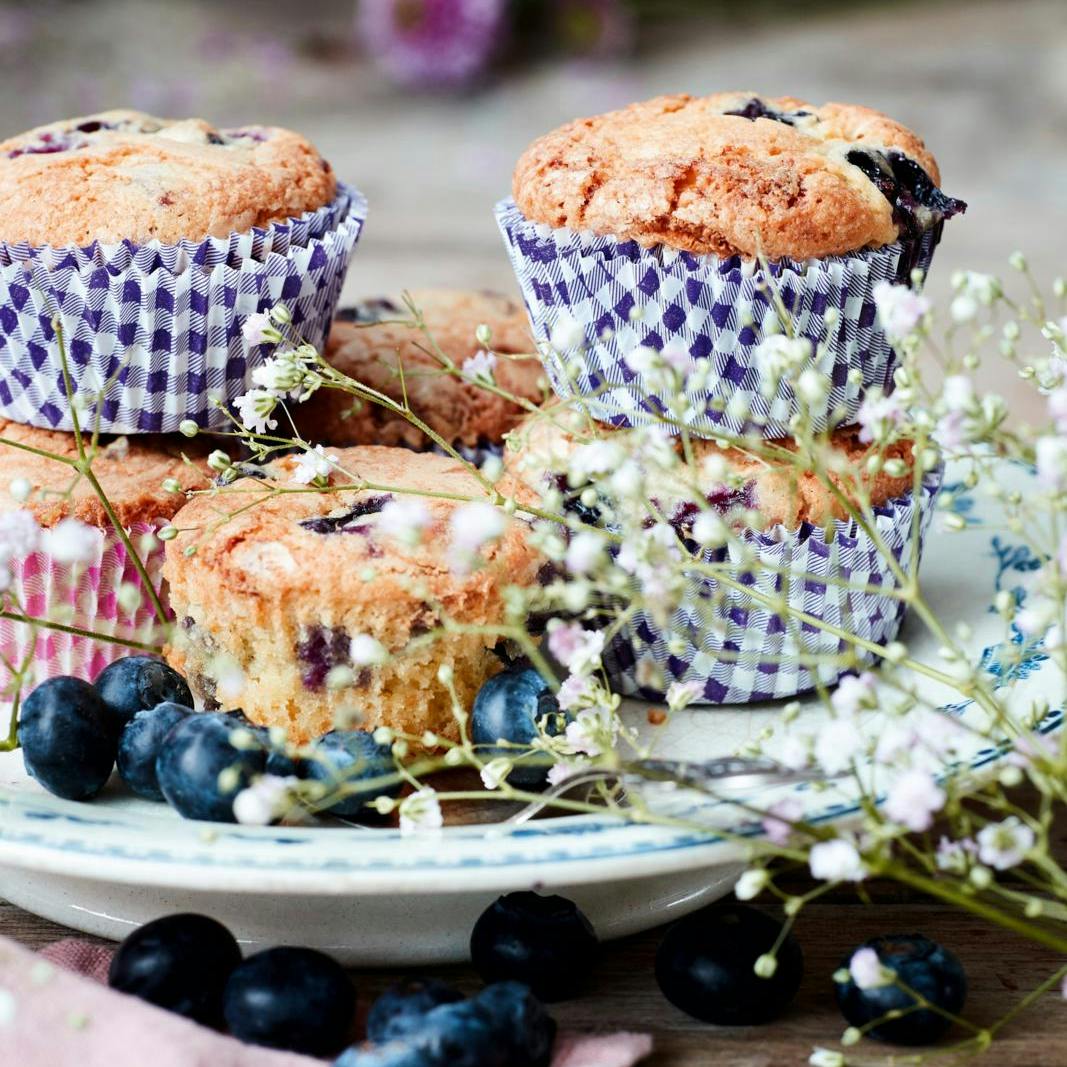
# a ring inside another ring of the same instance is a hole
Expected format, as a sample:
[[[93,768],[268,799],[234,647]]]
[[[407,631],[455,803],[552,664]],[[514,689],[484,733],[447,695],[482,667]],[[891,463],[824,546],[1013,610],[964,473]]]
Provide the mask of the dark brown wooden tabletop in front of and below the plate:
[[[1055,837],[1060,862],[1064,863],[1067,824]],[[797,893],[812,888],[803,878],[783,885]],[[770,1025],[710,1026],[665,1001],[653,975],[662,930],[605,945],[588,989],[575,1000],[554,1005],[553,1014],[570,1030],[651,1033],[655,1051],[647,1061],[649,1067],[792,1067],[806,1064],[816,1045],[834,1047],[844,1022],[834,1005],[831,975],[851,949],[874,935],[925,934],[955,952],[970,984],[965,1014],[980,1025],[999,1019],[1063,962],[1048,950],[894,885],[875,882],[867,889],[870,906],[860,903],[851,890],[842,889],[802,912],[796,930],[806,959],[803,984],[789,1013]],[[0,935],[39,947],[71,931],[0,901]],[[354,973],[364,1006],[397,977],[396,972]],[[468,992],[479,986],[467,967],[436,968],[426,973],[453,981]],[[961,1032],[957,1036],[962,1036]],[[871,1055],[888,1050],[875,1042],[861,1048]],[[1067,1065],[1067,1004],[1057,992],[1048,994],[1010,1022],[986,1056],[973,1062],[988,1067]]]

